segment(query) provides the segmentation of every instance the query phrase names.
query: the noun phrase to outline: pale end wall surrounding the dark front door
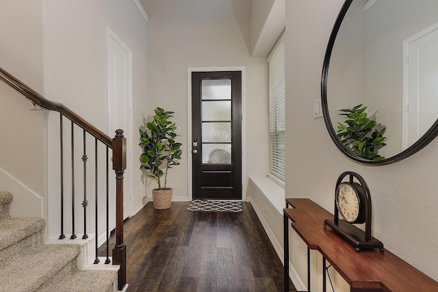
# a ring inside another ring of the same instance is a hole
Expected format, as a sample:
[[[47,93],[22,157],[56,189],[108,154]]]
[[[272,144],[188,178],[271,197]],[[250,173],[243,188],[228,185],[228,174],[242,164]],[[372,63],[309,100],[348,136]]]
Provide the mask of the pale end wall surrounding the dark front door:
[[[179,142],[183,143],[181,165],[169,172],[168,185],[174,199],[188,200],[188,68],[245,66],[247,175],[268,172],[267,143],[267,64],[266,58],[250,57],[242,23],[249,23],[248,14],[235,10],[235,1],[216,0],[144,0],[149,15],[149,111],[157,106],[175,111],[172,118],[181,127]],[[245,3],[245,1],[244,1]],[[249,9],[249,7],[248,7]],[[238,14],[238,15],[236,15]],[[238,20],[240,17],[240,20]],[[242,20],[243,17],[243,20]]]

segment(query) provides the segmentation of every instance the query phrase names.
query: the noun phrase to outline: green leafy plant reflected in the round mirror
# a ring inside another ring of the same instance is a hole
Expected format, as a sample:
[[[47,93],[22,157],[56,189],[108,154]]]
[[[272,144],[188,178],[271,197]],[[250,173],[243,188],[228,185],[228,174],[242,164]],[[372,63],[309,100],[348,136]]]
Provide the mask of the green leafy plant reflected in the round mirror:
[[[383,137],[386,127],[375,129],[377,122],[368,118],[365,112],[367,107],[356,105],[352,109],[341,109],[341,116],[345,116],[346,124],[338,123],[337,137],[342,144],[357,156],[372,161],[379,161],[385,157],[378,155],[378,149],[385,146],[386,137]],[[373,131],[374,130],[374,131]]]

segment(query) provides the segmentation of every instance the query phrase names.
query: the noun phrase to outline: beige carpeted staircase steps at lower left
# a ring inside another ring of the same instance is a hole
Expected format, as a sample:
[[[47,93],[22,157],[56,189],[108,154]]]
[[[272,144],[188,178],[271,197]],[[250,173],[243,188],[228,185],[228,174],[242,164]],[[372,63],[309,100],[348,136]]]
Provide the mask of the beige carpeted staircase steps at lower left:
[[[45,221],[10,217],[11,202],[0,191],[0,291],[117,291],[116,270],[79,270],[79,245],[44,244]]]

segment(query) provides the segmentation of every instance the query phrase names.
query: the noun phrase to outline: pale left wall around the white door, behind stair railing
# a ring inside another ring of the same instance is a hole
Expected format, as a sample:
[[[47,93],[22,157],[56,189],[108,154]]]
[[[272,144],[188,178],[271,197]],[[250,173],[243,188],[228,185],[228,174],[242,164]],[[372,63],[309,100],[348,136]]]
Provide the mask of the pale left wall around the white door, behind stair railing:
[[[133,56],[133,133],[142,122],[142,114],[147,109],[147,22],[135,1],[59,1],[44,0],[44,92],[52,101],[64,103],[77,114],[107,133],[107,53],[106,30],[110,27],[131,49]],[[49,120],[59,120],[51,115]],[[56,177],[59,163],[55,160],[59,138],[57,129],[49,128],[49,178]],[[109,134],[114,137],[114,133]],[[77,135],[81,139],[81,135]],[[138,137],[127,137],[133,145],[133,157],[140,155]],[[78,148],[81,152],[81,148]],[[78,154],[78,155],[81,155]],[[127,165],[133,174],[132,209],[142,207],[144,187],[141,181],[140,163],[133,158]],[[79,171],[79,170],[78,170]],[[81,172],[77,172],[81,173]],[[110,176],[113,179],[114,176]],[[77,175],[81,181],[81,174]],[[57,217],[56,206],[59,183],[50,181],[49,201],[52,213],[49,224]],[[78,190],[80,193],[81,190]],[[94,192],[90,192],[94,194]],[[102,193],[104,194],[104,192]],[[92,207],[92,206],[89,206]],[[130,215],[130,214],[128,214]],[[80,228],[80,227],[79,227]],[[49,228],[49,237],[51,233]],[[68,233],[68,231],[66,231]]]

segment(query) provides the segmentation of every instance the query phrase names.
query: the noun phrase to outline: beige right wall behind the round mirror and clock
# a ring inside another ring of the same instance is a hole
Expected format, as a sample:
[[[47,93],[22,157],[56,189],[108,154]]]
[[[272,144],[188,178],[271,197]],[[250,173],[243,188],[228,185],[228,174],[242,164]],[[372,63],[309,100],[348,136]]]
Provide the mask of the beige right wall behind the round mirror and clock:
[[[331,141],[324,121],[312,118],[313,99],[320,97],[326,44],[343,2],[286,1],[285,196],[311,198],[331,211],[339,174],[358,172],[368,182],[372,195],[373,236],[404,261],[438,280],[438,253],[432,248],[438,240],[438,141],[404,161],[370,167],[344,157]],[[305,253],[303,244],[294,237],[291,248]],[[292,263],[300,278],[306,279],[305,261],[292,258]],[[320,265],[313,264],[313,272],[320,274]],[[313,289],[321,291],[319,279],[313,280]]]

